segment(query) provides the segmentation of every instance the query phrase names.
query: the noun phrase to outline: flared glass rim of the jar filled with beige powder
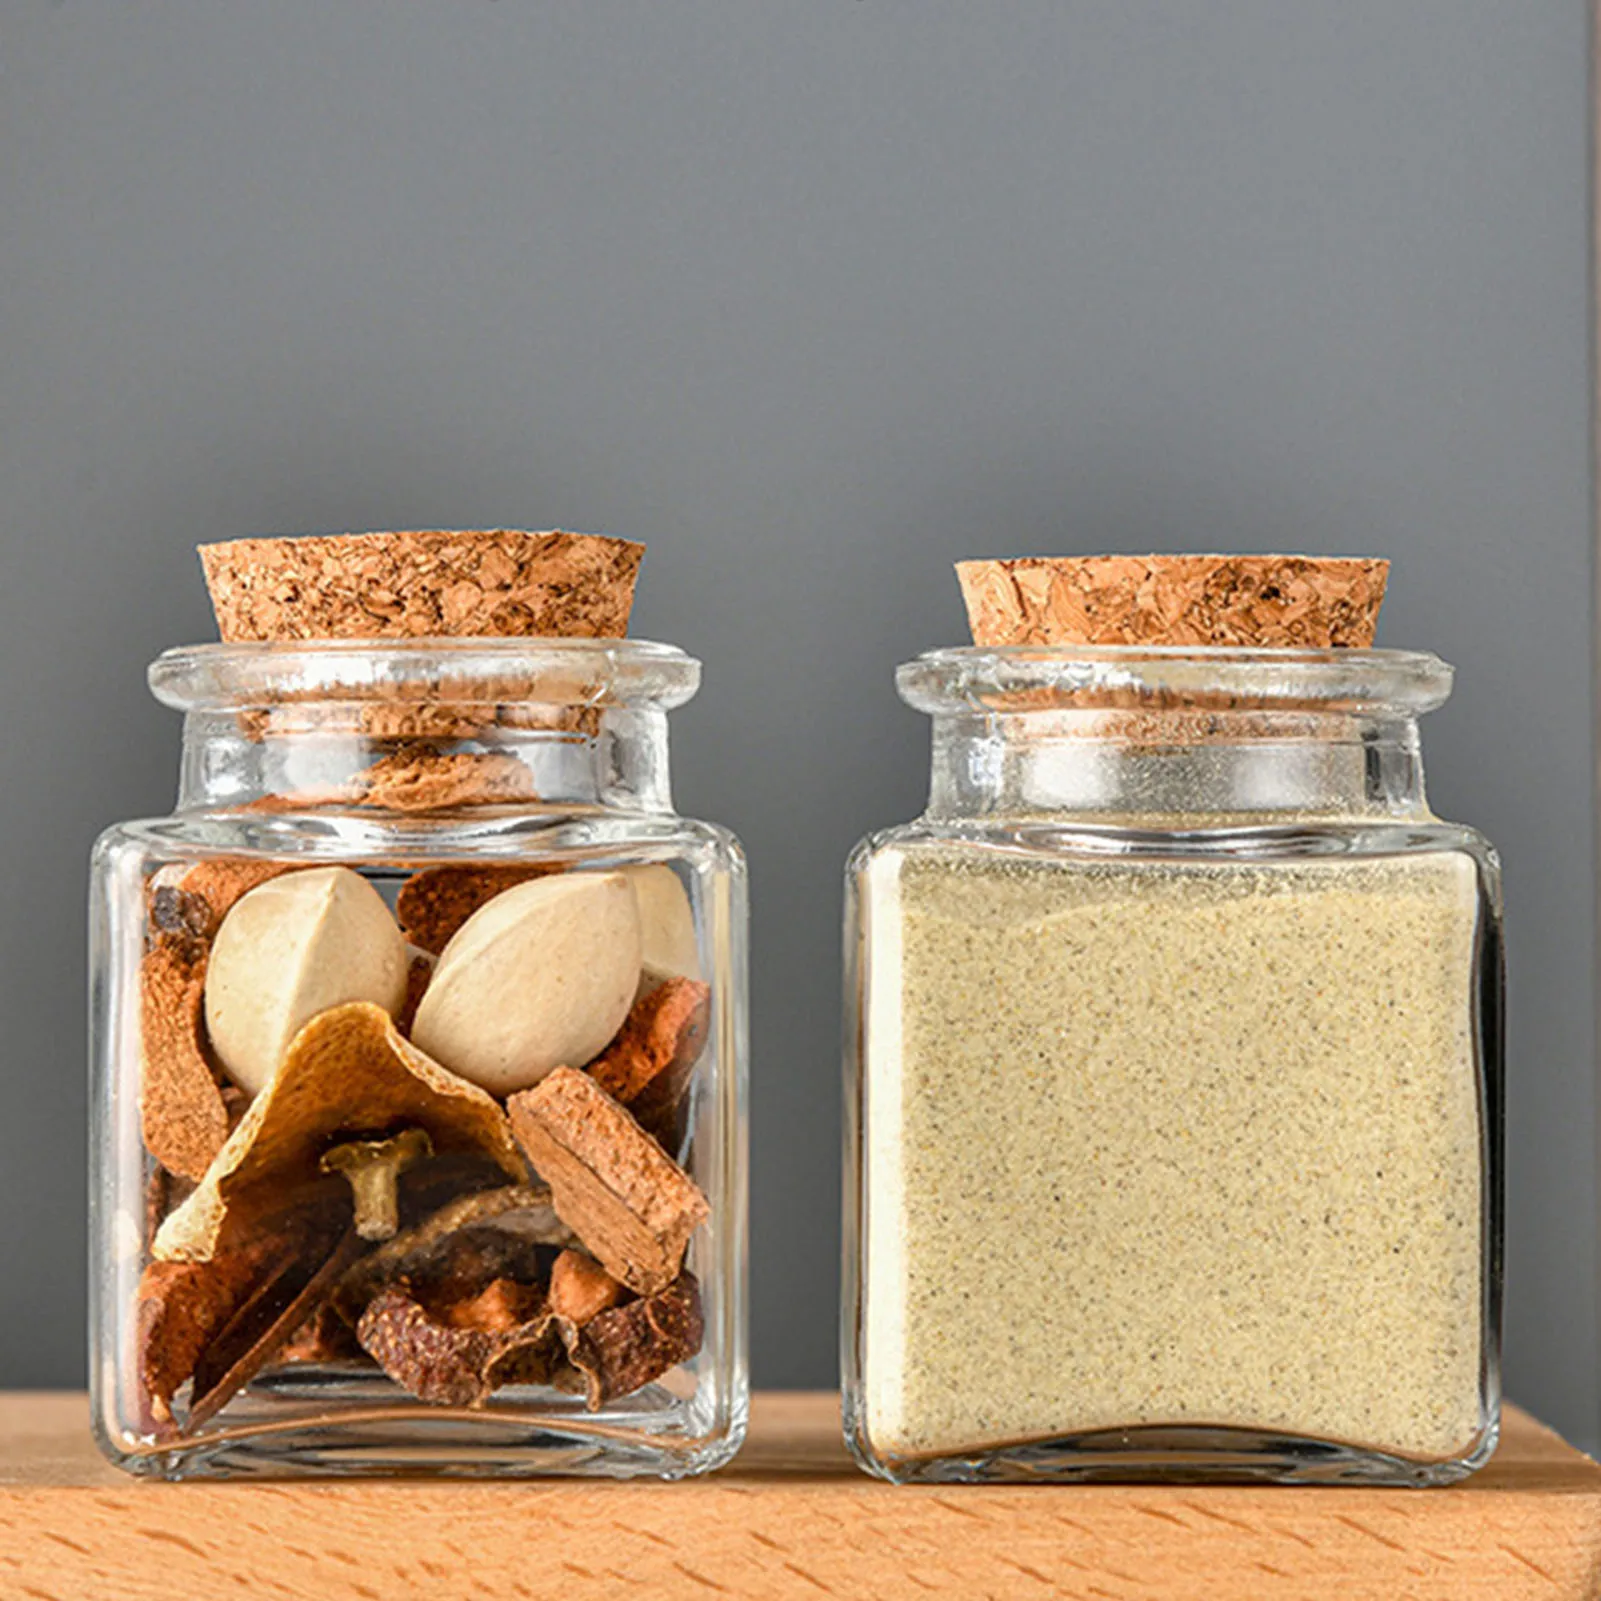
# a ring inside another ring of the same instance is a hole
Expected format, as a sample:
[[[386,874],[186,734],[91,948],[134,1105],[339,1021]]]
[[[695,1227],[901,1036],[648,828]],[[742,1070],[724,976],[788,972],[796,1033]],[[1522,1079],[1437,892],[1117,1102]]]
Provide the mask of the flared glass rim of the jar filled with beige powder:
[[[1444,704],[1454,672],[1426,650],[949,645],[903,663],[895,687],[935,714],[1137,704],[1420,717]]]

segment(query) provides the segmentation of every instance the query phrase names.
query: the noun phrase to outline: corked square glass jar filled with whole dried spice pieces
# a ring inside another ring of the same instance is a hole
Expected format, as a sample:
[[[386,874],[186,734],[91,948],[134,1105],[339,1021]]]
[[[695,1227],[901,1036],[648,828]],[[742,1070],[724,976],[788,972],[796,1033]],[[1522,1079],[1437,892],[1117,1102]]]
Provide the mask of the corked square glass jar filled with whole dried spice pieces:
[[[202,551],[173,817],[94,853],[93,1420],[142,1475],[738,1449],[744,865],[642,548]]]

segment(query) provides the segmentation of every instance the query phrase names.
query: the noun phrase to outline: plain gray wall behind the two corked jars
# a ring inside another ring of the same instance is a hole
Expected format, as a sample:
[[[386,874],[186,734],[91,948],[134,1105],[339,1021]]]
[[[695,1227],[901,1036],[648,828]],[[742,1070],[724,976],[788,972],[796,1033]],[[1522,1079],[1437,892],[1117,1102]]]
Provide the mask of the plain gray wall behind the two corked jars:
[[[0,0],[0,1377],[83,1372],[82,897],[202,538],[650,541],[754,871],[754,1353],[834,1374],[839,866],[949,562],[1382,551],[1507,860],[1510,1388],[1596,1418],[1582,0]]]

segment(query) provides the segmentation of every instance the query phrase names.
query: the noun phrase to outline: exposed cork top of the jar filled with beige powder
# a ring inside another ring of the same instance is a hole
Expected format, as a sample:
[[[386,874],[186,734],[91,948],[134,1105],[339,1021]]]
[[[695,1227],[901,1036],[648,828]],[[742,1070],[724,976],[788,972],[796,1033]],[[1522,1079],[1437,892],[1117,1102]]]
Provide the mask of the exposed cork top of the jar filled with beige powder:
[[[1374,642],[1390,564],[1334,556],[1025,556],[957,562],[975,645]]]

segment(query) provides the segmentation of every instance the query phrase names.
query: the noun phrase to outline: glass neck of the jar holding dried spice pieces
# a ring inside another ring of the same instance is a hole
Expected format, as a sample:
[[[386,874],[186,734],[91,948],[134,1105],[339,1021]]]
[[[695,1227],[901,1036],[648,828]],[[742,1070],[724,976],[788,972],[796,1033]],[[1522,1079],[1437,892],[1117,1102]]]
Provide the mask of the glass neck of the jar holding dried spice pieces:
[[[395,722],[371,704],[191,711],[178,807],[672,812],[661,706],[459,711],[432,706]]]

